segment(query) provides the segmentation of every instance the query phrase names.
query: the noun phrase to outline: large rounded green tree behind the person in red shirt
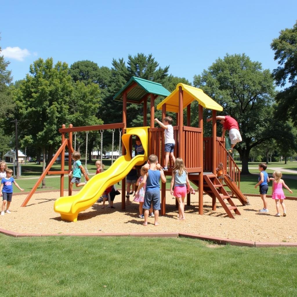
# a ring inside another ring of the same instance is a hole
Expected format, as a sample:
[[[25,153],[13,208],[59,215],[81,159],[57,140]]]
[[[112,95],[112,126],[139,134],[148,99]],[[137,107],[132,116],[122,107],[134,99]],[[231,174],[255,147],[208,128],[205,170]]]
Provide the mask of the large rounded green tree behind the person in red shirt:
[[[243,141],[235,148],[242,160],[242,173],[248,174],[250,150],[271,137],[273,124],[267,119],[273,118],[274,85],[270,71],[245,54],[227,54],[201,75],[195,75],[194,86],[223,106],[222,115],[238,121]],[[207,112],[211,116],[211,111]]]

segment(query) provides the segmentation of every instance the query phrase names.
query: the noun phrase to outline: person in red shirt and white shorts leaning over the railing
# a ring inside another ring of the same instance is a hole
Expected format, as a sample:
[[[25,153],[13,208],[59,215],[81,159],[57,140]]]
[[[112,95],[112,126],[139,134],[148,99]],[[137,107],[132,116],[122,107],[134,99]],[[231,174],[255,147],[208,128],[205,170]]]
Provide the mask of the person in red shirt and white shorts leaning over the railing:
[[[212,118],[206,119],[207,122],[210,122],[211,120]],[[223,125],[222,138],[225,137],[226,130],[229,130],[229,138],[231,140],[231,149],[229,153],[232,153],[236,143],[242,141],[238,123],[236,119],[233,119],[231,116],[216,116],[216,120],[219,120],[220,123]]]

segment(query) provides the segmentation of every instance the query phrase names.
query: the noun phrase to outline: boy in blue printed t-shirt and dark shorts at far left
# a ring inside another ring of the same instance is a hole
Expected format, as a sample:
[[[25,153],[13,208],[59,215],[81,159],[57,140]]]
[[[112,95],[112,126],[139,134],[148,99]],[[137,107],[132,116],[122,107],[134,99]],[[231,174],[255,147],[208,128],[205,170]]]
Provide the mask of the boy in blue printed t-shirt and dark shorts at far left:
[[[15,184],[15,186],[22,192],[24,192],[24,189],[20,188],[20,186],[16,183],[12,175],[12,170],[10,168],[6,169],[6,177],[1,179],[1,186],[0,186],[0,196],[3,197],[2,202],[2,209],[1,209],[1,216],[4,216],[4,210],[6,206],[6,213],[10,214],[9,206],[12,200],[12,183]]]

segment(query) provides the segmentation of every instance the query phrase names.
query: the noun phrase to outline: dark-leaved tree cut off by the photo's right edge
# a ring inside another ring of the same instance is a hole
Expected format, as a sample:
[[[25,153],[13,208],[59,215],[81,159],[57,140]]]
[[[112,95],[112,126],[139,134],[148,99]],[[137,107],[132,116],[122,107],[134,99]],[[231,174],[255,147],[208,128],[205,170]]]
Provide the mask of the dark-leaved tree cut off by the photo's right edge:
[[[276,100],[279,119],[287,119],[289,116],[297,125],[297,21],[292,29],[279,32],[279,37],[271,43],[274,50],[274,60],[280,65],[273,70],[277,86],[285,86],[287,81],[291,86],[280,91]]]

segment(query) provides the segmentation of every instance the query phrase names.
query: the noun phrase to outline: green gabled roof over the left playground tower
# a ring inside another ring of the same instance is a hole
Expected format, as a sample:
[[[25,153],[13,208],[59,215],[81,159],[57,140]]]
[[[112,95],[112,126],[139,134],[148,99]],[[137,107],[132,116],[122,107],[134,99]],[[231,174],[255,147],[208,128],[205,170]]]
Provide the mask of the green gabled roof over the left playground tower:
[[[135,86],[130,88],[133,84],[135,84]],[[127,89],[129,89],[127,92],[127,102],[136,104],[140,104],[147,94],[154,94],[164,97],[167,97],[170,94],[170,92],[160,83],[155,83],[151,80],[132,76],[125,86],[113,96],[113,100],[123,101],[123,94]]]

